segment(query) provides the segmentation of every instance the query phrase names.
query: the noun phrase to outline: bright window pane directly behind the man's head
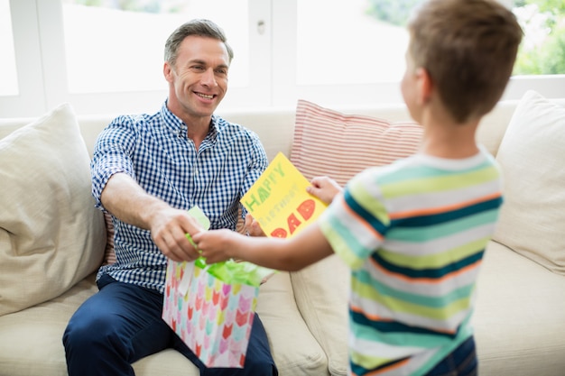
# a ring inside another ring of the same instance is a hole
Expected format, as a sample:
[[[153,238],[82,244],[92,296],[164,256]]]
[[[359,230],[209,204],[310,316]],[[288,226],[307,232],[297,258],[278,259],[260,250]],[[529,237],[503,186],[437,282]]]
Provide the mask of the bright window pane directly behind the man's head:
[[[230,85],[249,80],[246,0],[102,2],[64,0],[63,23],[69,92],[160,90],[163,46],[177,26],[191,18],[221,25],[236,50]],[[218,9],[222,9],[218,13]]]

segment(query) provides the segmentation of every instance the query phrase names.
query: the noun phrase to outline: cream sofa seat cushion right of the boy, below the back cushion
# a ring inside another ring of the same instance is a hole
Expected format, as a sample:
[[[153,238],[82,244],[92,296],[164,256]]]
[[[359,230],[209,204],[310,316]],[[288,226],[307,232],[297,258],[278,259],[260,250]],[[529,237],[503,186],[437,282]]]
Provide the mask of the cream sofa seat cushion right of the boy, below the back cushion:
[[[472,317],[481,376],[562,375],[565,278],[488,243]]]

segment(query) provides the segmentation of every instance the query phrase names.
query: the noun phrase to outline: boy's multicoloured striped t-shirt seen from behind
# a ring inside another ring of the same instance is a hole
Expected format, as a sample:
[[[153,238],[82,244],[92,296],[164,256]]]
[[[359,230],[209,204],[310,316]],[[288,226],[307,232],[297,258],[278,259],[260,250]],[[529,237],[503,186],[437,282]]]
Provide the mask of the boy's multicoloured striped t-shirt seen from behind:
[[[347,184],[320,228],[352,269],[352,375],[421,375],[472,335],[501,204],[500,172],[482,148],[463,160],[416,154]]]

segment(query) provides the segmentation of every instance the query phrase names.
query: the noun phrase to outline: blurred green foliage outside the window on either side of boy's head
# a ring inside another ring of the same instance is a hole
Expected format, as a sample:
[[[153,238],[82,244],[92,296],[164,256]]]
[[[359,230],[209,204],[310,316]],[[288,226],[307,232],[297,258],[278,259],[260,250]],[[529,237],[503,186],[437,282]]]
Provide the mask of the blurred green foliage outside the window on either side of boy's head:
[[[423,0],[367,0],[367,14],[405,26],[412,9]],[[514,66],[515,75],[565,74],[565,2],[515,0],[524,39]]]

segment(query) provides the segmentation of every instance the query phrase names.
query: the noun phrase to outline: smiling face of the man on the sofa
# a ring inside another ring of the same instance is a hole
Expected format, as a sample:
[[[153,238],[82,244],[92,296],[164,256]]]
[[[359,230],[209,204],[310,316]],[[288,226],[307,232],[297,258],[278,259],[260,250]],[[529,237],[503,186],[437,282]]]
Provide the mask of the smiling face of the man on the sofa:
[[[226,95],[228,68],[222,41],[197,35],[185,38],[174,67],[165,62],[171,111],[181,117],[212,115]]]

